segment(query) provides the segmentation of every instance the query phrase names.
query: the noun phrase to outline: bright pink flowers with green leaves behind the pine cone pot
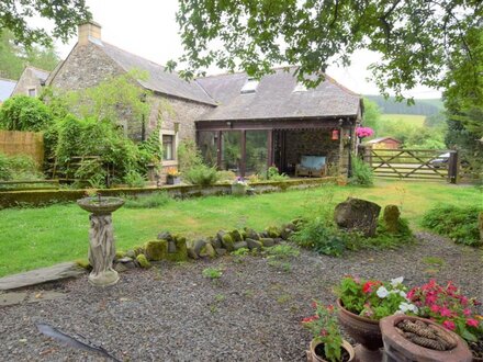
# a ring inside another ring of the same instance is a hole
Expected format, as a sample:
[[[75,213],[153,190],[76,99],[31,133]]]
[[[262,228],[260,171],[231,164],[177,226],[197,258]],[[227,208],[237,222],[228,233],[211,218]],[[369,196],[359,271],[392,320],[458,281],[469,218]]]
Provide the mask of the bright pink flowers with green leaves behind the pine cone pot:
[[[412,289],[408,298],[418,307],[418,315],[429,318],[464,339],[474,361],[483,361],[483,317],[474,313],[478,302],[464,296],[450,281],[435,280]]]

